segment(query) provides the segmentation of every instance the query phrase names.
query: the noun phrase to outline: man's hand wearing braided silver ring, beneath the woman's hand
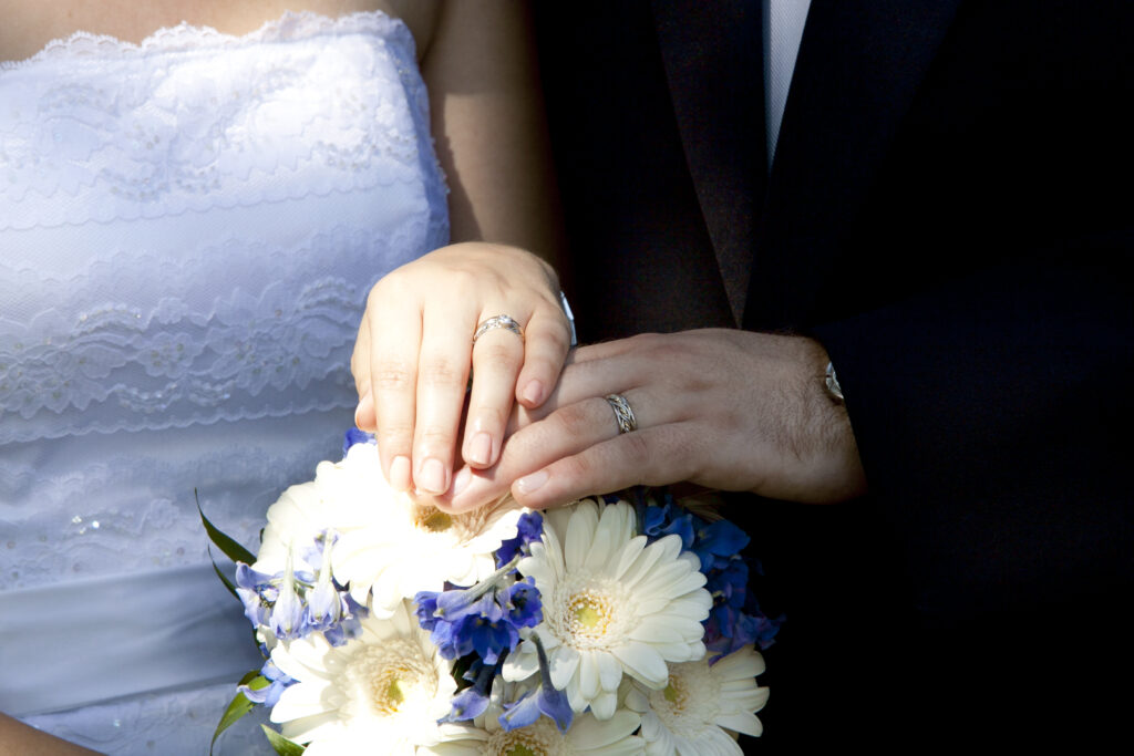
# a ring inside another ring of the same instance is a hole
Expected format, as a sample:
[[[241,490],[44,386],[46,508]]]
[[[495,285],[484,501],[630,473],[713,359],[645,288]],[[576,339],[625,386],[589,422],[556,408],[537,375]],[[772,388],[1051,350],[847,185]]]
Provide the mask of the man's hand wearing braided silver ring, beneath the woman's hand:
[[[514,414],[500,462],[462,470],[448,500],[480,506],[510,486],[545,508],[631,485],[691,481],[811,503],[866,486],[827,352],[801,337],[736,330],[646,334],[583,347],[549,400]],[[636,428],[619,432],[620,394]]]

